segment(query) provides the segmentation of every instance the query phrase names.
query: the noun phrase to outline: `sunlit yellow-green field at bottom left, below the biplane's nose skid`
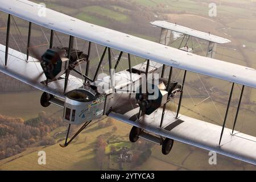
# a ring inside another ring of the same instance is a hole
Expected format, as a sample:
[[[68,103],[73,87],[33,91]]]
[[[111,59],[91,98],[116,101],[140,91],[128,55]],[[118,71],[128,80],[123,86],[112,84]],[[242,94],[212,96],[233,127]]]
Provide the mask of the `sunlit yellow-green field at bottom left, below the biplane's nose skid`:
[[[103,121],[106,121],[105,119]],[[119,136],[126,136],[129,127],[123,123],[115,123],[118,127],[116,134]],[[66,148],[61,148],[59,144],[55,144],[49,147],[39,147],[36,151],[18,157],[15,160],[4,159],[0,161],[1,170],[15,170],[18,166],[20,170],[96,170],[100,169],[97,166],[94,156],[94,148],[96,138],[99,135],[112,132],[112,127],[106,127],[104,129],[98,129],[97,125],[92,125],[91,128],[82,132],[77,138],[76,142],[73,142]],[[85,140],[86,137],[86,140]],[[126,137],[127,138],[127,137]],[[128,138],[127,138],[128,140]],[[40,166],[38,164],[38,151],[43,150],[47,154],[47,165]],[[13,156],[12,158],[15,158]],[[22,165],[21,165],[22,164]],[[23,167],[22,167],[23,166]]]

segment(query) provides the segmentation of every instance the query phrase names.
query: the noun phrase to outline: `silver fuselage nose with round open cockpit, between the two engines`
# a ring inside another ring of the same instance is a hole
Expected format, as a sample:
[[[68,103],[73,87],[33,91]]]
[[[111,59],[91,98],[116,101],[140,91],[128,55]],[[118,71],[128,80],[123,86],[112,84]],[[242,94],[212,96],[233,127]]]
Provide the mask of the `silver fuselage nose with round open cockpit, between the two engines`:
[[[72,125],[99,118],[104,113],[105,94],[97,96],[94,90],[76,89],[66,94],[64,121]]]

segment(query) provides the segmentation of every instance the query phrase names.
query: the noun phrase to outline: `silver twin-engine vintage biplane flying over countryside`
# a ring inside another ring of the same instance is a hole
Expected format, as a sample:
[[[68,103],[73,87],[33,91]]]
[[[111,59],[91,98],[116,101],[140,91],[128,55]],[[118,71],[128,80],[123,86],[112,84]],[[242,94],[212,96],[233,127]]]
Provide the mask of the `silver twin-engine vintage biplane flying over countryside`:
[[[167,43],[162,41],[155,43],[137,38],[51,9],[46,9],[46,16],[39,16],[40,7],[42,6],[26,0],[0,1],[0,10],[8,14],[6,45],[0,45],[0,71],[42,90],[43,94],[40,98],[42,106],[55,104],[63,108],[63,120],[69,123],[69,126],[67,138],[61,147],[68,146],[91,121],[102,115],[108,115],[133,126],[129,135],[131,142],[142,138],[159,144],[164,155],[170,153],[176,140],[256,164],[256,138],[235,130],[243,89],[245,86],[256,88],[256,70],[212,58],[214,45],[227,43],[229,40],[193,30],[184,31],[184,27],[177,27],[176,24],[154,23],[155,26],[165,28],[164,31],[172,30],[191,37],[207,39],[209,41],[207,54],[200,56],[189,49],[177,49],[166,46]],[[28,22],[27,53],[9,47],[12,16]],[[32,49],[29,49],[32,23],[51,30],[49,48],[43,55],[34,53],[34,57],[30,56]],[[69,46],[54,47],[54,32],[67,34]],[[88,43],[88,52],[74,48],[75,38]],[[105,48],[95,75],[90,78],[88,72],[92,44]],[[119,51],[114,67],[112,50]],[[115,73],[121,57],[125,54],[128,57],[129,69]],[[108,55],[109,75],[97,78],[106,55]],[[132,67],[131,55],[142,57],[145,62]],[[82,63],[86,64],[84,72],[77,69]],[[165,78],[163,73],[166,72],[167,67],[170,71]],[[182,82],[173,80],[172,68],[184,70]],[[72,72],[79,73],[81,78],[74,76]],[[232,83],[222,126],[180,114],[187,72]],[[152,73],[154,76],[150,76]],[[144,82],[146,89],[142,87]],[[242,85],[242,92],[233,129],[228,129],[225,126],[234,84]],[[167,103],[177,96],[179,103],[175,114],[167,112]],[[81,129],[69,139],[71,125],[79,124],[83,124]]]

